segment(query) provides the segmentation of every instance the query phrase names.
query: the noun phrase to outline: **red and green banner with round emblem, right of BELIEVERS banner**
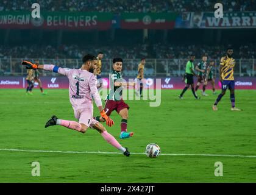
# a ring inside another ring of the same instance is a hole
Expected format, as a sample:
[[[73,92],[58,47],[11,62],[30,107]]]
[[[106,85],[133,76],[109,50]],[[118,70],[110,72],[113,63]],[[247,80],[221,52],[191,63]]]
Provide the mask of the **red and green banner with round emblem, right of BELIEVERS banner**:
[[[121,29],[173,29],[177,13],[121,13]]]

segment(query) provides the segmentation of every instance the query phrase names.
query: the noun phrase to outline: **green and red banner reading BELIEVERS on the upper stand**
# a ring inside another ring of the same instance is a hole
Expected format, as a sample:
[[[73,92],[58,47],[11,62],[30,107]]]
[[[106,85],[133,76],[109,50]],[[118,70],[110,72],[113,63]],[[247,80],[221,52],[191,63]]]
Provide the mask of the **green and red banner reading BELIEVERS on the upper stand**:
[[[32,18],[31,12],[0,12],[0,29],[70,29],[107,30],[112,27],[112,13],[43,12]]]

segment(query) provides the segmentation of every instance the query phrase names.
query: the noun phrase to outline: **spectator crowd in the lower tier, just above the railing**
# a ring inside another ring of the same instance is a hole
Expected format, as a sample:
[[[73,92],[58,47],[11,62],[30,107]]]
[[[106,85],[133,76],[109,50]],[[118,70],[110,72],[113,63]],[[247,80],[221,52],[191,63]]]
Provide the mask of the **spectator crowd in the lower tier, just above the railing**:
[[[104,57],[122,57],[124,59],[187,59],[190,54],[200,58],[207,54],[210,59],[219,59],[227,46],[207,45],[169,45],[169,44],[136,44],[133,46],[78,46],[75,44],[54,46],[0,46],[0,58],[23,58],[23,59],[81,59],[84,54],[97,54],[104,52]],[[245,44],[233,47],[234,56],[237,59],[255,59],[255,44]]]

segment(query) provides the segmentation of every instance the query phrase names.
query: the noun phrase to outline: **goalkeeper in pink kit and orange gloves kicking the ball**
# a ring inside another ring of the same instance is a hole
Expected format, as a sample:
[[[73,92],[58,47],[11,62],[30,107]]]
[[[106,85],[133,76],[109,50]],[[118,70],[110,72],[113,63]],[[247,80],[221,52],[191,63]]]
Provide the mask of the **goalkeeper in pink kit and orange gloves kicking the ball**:
[[[87,54],[82,59],[82,66],[80,69],[68,69],[60,68],[54,65],[36,65],[34,63],[23,61],[22,65],[27,69],[44,69],[46,71],[53,71],[68,77],[69,80],[69,101],[74,109],[74,116],[78,119],[76,121],[67,121],[52,116],[45,127],[60,125],[69,129],[77,130],[78,132],[85,133],[88,127],[98,130],[101,133],[104,140],[112,144],[124,155],[129,157],[130,152],[127,147],[121,146],[118,141],[107,132],[101,123],[93,119],[93,99],[99,108],[102,118],[105,119],[107,126],[113,126],[114,122],[109,118],[102,107],[101,98],[99,96],[96,83],[97,80],[93,75],[93,71],[96,68],[96,57]],[[93,97],[93,99],[92,99]]]

